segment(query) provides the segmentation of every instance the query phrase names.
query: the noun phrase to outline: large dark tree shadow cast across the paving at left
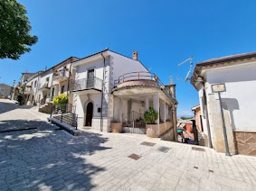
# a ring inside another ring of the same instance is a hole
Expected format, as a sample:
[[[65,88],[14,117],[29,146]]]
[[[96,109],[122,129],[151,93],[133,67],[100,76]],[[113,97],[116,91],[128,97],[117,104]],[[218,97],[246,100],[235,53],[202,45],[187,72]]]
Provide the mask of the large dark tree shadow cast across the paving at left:
[[[43,121],[10,120],[2,124],[37,130],[0,133],[0,190],[90,190],[105,169],[87,158],[108,141],[99,133],[73,137]],[[1,125],[2,125],[1,124]]]

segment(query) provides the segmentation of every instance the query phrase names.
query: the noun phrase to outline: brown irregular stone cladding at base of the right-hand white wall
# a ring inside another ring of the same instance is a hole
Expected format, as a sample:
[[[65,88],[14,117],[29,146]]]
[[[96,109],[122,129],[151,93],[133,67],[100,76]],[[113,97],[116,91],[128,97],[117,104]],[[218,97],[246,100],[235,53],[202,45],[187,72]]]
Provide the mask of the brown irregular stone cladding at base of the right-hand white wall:
[[[234,132],[238,154],[256,155],[256,132]]]

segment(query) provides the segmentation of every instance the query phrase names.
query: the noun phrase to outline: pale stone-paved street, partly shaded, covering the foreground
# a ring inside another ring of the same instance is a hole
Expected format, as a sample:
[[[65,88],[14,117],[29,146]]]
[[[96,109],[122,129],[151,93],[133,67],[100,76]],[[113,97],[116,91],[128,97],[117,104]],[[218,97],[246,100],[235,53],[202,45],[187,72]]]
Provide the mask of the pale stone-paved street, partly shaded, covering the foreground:
[[[128,134],[73,137],[45,116],[0,100],[0,131],[37,128],[0,133],[1,191],[256,190],[255,157]],[[141,158],[128,158],[133,153]]]

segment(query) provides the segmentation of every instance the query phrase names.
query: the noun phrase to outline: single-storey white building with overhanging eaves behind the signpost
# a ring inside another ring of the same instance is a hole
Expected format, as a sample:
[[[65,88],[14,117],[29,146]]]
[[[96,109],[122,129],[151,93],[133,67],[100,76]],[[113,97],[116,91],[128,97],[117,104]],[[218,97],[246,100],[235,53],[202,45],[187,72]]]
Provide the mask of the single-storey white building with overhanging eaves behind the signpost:
[[[199,93],[209,146],[225,150],[220,102],[212,90],[212,85],[224,83],[221,96],[229,148],[232,153],[256,155],[256,52],[197,63],[191,83]]]

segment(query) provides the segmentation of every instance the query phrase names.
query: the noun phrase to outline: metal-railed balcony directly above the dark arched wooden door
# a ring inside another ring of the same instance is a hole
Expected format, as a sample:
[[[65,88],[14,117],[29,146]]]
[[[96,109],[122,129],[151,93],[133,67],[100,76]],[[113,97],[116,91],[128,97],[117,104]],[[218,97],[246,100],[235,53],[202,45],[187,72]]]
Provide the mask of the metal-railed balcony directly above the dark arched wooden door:
[[[98,77],[82,78],[77,80],[71,80],[70,91],[83,91],[83,90],[97,90],[101,91],[102,79]]]

